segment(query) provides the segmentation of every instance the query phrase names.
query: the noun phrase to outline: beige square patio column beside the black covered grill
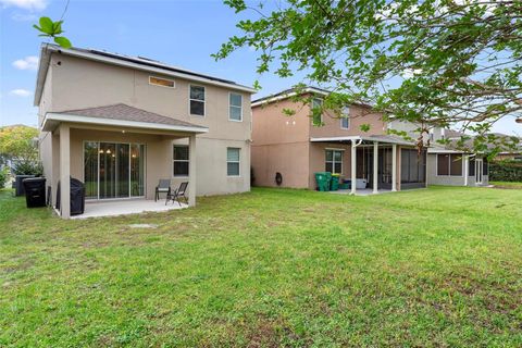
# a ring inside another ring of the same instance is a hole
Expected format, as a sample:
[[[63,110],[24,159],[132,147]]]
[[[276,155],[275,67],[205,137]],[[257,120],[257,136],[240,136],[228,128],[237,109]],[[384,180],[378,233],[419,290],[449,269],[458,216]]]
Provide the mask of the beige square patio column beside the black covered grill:
[[[71,144],[69,125],[60,125],[60,215],[71,217]]]

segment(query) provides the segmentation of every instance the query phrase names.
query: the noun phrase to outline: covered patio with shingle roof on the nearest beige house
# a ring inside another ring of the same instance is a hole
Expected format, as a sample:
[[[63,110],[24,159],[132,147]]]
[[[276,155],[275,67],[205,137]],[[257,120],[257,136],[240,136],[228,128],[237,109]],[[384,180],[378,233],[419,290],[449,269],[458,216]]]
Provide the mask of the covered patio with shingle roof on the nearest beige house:
[[[50,199],[60,200],[62,219],[72,216],[72,177],[85,185],[85,211],[76,217],[185,208],[165,206],[164,197],[153,201],[159,181],[172,178],[173,140],[183,138],[188,139],[188,206],[196,204],[196,135],[207,127],[115,104],[49,112],[42,129],[50,132],[52,145],[51,153],[42,154],[51,173]]]

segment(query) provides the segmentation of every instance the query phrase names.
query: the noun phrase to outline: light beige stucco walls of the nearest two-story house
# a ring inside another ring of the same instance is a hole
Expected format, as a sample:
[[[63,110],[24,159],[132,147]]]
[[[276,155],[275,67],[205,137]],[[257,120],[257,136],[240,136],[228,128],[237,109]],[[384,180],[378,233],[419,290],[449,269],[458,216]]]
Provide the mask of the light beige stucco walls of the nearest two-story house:
[[[248,92],[197,83],[195,85],[206,87],[206,115],[196,116],[189,114],[188,96],[189,85],[191,84],[189,80],[149,74],[59,53],[52,54],[50,65],[52,74],[46,80],[40,103],[40,122],[48,111],[63,112],[126,103],[164,116],[202,125],[209,127],[209,133],[197,136],[197,195],[241,192],[250,189],[251,109]],[[175,88],[149,85],[149,76],[174,79]],[[243,122],[228,120],[231,91],[243,95]],[[103,138],[104,141],[120,141],[122,139],[121,136],[115,134],[110,136],[109,134],[99,135],[99,140]],[[74,151],[72,150],[72,157],[82,158],[83,149],[78,149],[78,145],[84,139],[83,135],[73,132],[71,137],[71,141],[75,146]],[[142,135],[139,138],[147,140],[148,153],[154,152],[153,156],[147,158],[147,197],[151,198],[151,187],[156,187],[160,176],[171,178],[173,186],[181,182],[181,179],[173,177],[173,140],[166,139],[160,146],[157,140]],[[142,140],[140,142],[144,142]],[[188,140],[186,141],[188,144]],[[42,160],[47,166],[47,163],[52,162],[46,152],[49,144],[47,141],[42,142],[42,148],[45,148]],[[239,177],[226,176],[226,147],[241,149],[241,173]],[[74,160],[73,176],[78,174],[78,170],[82,171],[83,165],[77,163],[77,158]],[[46,172],[53,176],[50,170]],[[157,173],[161,173],[161,175]]]

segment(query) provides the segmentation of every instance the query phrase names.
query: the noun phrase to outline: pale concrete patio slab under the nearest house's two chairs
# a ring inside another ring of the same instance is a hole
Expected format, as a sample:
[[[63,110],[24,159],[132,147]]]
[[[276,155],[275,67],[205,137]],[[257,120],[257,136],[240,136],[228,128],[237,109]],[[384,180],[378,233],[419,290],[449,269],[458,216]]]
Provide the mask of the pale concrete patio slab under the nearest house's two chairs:
[[[117,216],[128,214],[139,214],[145,212],[161,212],[169,210],[177,210],[188,208],[187,204],[177,202],[170,202],[165,206],[165,200],[135,199],[135,200],[112,200],[112,201],[97,201],[86,202],[85,212],[82,215],[74,215],[71,219],[88,219],[88,217],[103,217]]]

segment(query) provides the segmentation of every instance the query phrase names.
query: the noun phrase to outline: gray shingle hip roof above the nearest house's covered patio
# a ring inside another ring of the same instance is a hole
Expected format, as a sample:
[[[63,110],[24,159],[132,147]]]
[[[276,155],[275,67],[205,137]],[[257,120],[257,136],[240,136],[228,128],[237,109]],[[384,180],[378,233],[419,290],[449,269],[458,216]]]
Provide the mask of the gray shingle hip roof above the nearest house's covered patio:
[[[67,110],[67,111],[55,112],[55,113],[86,116],[86,117],[96,117],[96,119],[165,124],[171,126],[198,127],[202,129],[206,128],[192,123],[176,120],[173,117],[162,116],[160,114],[157,114],[150,111],[129,107],[124,103],[105,105],[105,107],[97,107],[97,108],[78,109],[78,110]]]

